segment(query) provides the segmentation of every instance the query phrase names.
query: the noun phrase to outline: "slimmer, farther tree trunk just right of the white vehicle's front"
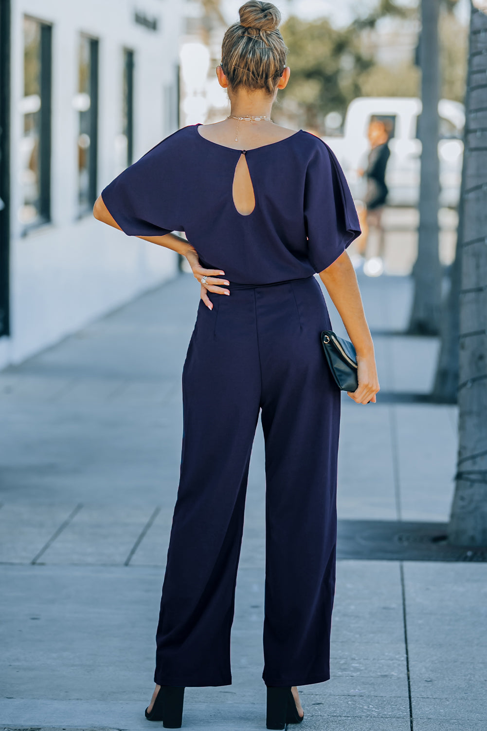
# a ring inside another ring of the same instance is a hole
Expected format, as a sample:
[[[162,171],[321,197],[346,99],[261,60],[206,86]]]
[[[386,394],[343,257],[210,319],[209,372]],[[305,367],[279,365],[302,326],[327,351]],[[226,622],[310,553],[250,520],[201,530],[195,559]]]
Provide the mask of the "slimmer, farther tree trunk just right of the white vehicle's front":
[[[438,54],[438,7],[440,0],[422,0],[421,100],[418,120],[421,140],[421,180],[419,194],[418,258],[413,267],[414,299],[408,333],[437,335],[440,332],[441,268],[438,254],[438,200],[440,162],[438,160],[438,101],[440,69]]]

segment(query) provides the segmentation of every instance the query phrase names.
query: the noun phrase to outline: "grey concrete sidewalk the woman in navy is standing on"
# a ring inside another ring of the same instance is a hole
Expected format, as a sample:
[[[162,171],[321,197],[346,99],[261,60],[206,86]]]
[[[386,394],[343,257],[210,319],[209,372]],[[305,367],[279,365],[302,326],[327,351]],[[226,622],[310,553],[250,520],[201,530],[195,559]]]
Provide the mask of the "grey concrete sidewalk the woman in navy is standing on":
[[[359,283],[371,330],[401,330],[409,279]],[[0,728],[148,728],[198,297],[180,276],[0,373]],[[408,560],[408,541],[422,555],[421,531],[399,535],[405,560],[367,558],[383,556],[377,520],[448,520],[456,462],[456,408],[415,398],[432,385],[437,340],[374,340],[377,404],[342,399],[331,680],[300,689],[303,728],[485,731],[487,564]],[[396,392],[411,402],[387,398]],[[264,489],[259,425],[233,684],[187,689],[187,729],[265,729]]]

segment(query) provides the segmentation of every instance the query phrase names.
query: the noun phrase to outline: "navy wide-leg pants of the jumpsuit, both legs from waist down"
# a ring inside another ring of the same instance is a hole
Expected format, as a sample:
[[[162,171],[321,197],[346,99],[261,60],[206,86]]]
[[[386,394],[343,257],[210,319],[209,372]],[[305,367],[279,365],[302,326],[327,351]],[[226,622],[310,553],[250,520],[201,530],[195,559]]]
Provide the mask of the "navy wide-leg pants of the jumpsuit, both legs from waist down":
[[[340,390],[314,277],[230,285],[199,303],[183,368],[183,452],[156,633],[159,685],[231,684],[230,630],[250,451],[266,469],[264,672],[329,679]]]

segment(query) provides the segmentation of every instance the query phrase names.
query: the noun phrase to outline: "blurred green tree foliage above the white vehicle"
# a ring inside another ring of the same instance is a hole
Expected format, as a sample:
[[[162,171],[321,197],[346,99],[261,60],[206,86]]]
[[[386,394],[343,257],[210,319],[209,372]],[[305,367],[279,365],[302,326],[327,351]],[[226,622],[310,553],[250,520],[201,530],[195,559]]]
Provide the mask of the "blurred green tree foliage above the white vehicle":
[[[455,1],[443,0],[440,15],[442,96],[463,101],[467,29],[450,12]],[[362,50],[362,35],[385,15],[414,18],[418,8],[379,0],[367,17],[346,29],[334,29],[325,18],[312,22],[288,18],[281,31],[289,48],[291,77],[279,92],[278,106],[296,115],[296,123],[321,130],[327,113],[344,114],[356,96],[418,96],[421,72],[413,60],[386,67]]]

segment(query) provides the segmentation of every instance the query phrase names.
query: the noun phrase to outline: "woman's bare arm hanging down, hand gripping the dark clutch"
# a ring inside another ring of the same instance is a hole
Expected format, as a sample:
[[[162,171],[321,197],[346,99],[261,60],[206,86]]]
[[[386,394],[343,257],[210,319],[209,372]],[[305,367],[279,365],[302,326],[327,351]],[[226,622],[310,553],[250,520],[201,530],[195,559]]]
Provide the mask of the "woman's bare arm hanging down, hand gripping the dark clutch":
[[[358,389],[348,392],[357,404],[375,402],[379,389],[375,365],[374,344],[365,319],[358,281],[348,252],[344,251],[329,267],[320,272],[320,279],[326,287],[343,325],[356,349],[358,366]]]

